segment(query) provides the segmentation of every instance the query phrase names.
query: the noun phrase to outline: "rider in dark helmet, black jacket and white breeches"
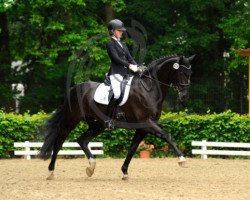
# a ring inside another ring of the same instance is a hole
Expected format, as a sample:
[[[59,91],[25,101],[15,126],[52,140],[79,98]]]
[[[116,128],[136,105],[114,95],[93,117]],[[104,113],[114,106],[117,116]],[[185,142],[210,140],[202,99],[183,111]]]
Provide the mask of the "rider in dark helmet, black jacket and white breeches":
[[[118,106],[118,99],[121,95],[121,82],[123,77],[128,74],[128,69],[137,72],[138,66],[125,43],[121,42],[123,32],[126,31],[123,22],[119,19],[113,19],[108,23],[108,31],[111,40],[107,43],[106,48],[111,60],[111,66],[108,72],[110,77],[111,87],[114,92],[114,98],[111,98],[107,115],[109,120],[105,122],[108,128],[114,128],[112,115],[115,108]]]

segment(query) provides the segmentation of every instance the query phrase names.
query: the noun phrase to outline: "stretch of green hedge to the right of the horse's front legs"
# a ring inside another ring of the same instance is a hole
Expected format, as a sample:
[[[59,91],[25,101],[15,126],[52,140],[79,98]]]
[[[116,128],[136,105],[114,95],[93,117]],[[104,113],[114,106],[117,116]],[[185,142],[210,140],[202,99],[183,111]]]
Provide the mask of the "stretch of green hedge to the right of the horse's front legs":
[[[207,115],[163,114],[160,125],[171,134],[184,154],[189,156],[193,140],[250,142],[250,117],[230,111]],[[150,142],[153,141],[154,138],[150,137]],[[159,141],[156,145],[164,149],[162,144],[162,141]],[[156,153],[160,152],[159,148]],[[165,149],[168,150],[166,147]]]

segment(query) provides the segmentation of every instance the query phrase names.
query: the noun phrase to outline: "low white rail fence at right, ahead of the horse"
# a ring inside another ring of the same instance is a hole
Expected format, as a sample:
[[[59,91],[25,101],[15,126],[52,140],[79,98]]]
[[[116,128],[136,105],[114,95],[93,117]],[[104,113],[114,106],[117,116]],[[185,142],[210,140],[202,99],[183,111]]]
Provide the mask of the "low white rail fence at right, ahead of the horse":
[[[207,147],[219,148],[250,148],[250,143],[235,143],[235,142],[207,142],[192,141],[192,146],[200,146],[201,149],[192,149],[192,154],[201,155],[202,159],[207,159],[208,155],[224,155],[224,156],[250,156],[250,151],[235,151],[235,150],[208,150]]]

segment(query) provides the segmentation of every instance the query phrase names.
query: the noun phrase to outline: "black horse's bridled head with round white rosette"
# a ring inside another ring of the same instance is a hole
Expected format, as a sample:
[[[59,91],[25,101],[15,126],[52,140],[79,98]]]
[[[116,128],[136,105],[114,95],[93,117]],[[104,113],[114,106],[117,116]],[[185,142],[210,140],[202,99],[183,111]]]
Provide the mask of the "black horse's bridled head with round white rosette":
[[[189,96],[189,86],[191,78],[191,60],[195,55],[186,58],[184,56],[178,57],[177,61],[173,62],[172,66],[172,84],[177,87],[180,101],[185,101]]]

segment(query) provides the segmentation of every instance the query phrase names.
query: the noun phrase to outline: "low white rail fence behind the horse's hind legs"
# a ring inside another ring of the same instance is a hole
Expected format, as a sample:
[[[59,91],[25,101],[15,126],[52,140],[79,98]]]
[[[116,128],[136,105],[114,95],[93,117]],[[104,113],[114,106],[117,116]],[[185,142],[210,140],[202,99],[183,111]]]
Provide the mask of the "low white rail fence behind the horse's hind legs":
[[[15,142],[14,147],[24,148],[23,150],[15,150],[14,154],[18,156],[24,156],[27,160],[31,159],[31,156],[37,155],[39,150],[43,145],[42,142]],[[76,142],[65,142],[63,148],[80,148],[79,144]],[[103,150],[100,150],[103,147],[102,142],[90,142],[88,147],[93,155],[102,155],[104,154]],[[36,148],[36,149],[34,149]],[[84,155],[83,150],[71,150],[63,149],[59,151],[58,155]],[[94,148],[94,149],[92,149]],[[98,148],[98,149],[96,149]],[[34,150],[33,150],[34,149]]]

